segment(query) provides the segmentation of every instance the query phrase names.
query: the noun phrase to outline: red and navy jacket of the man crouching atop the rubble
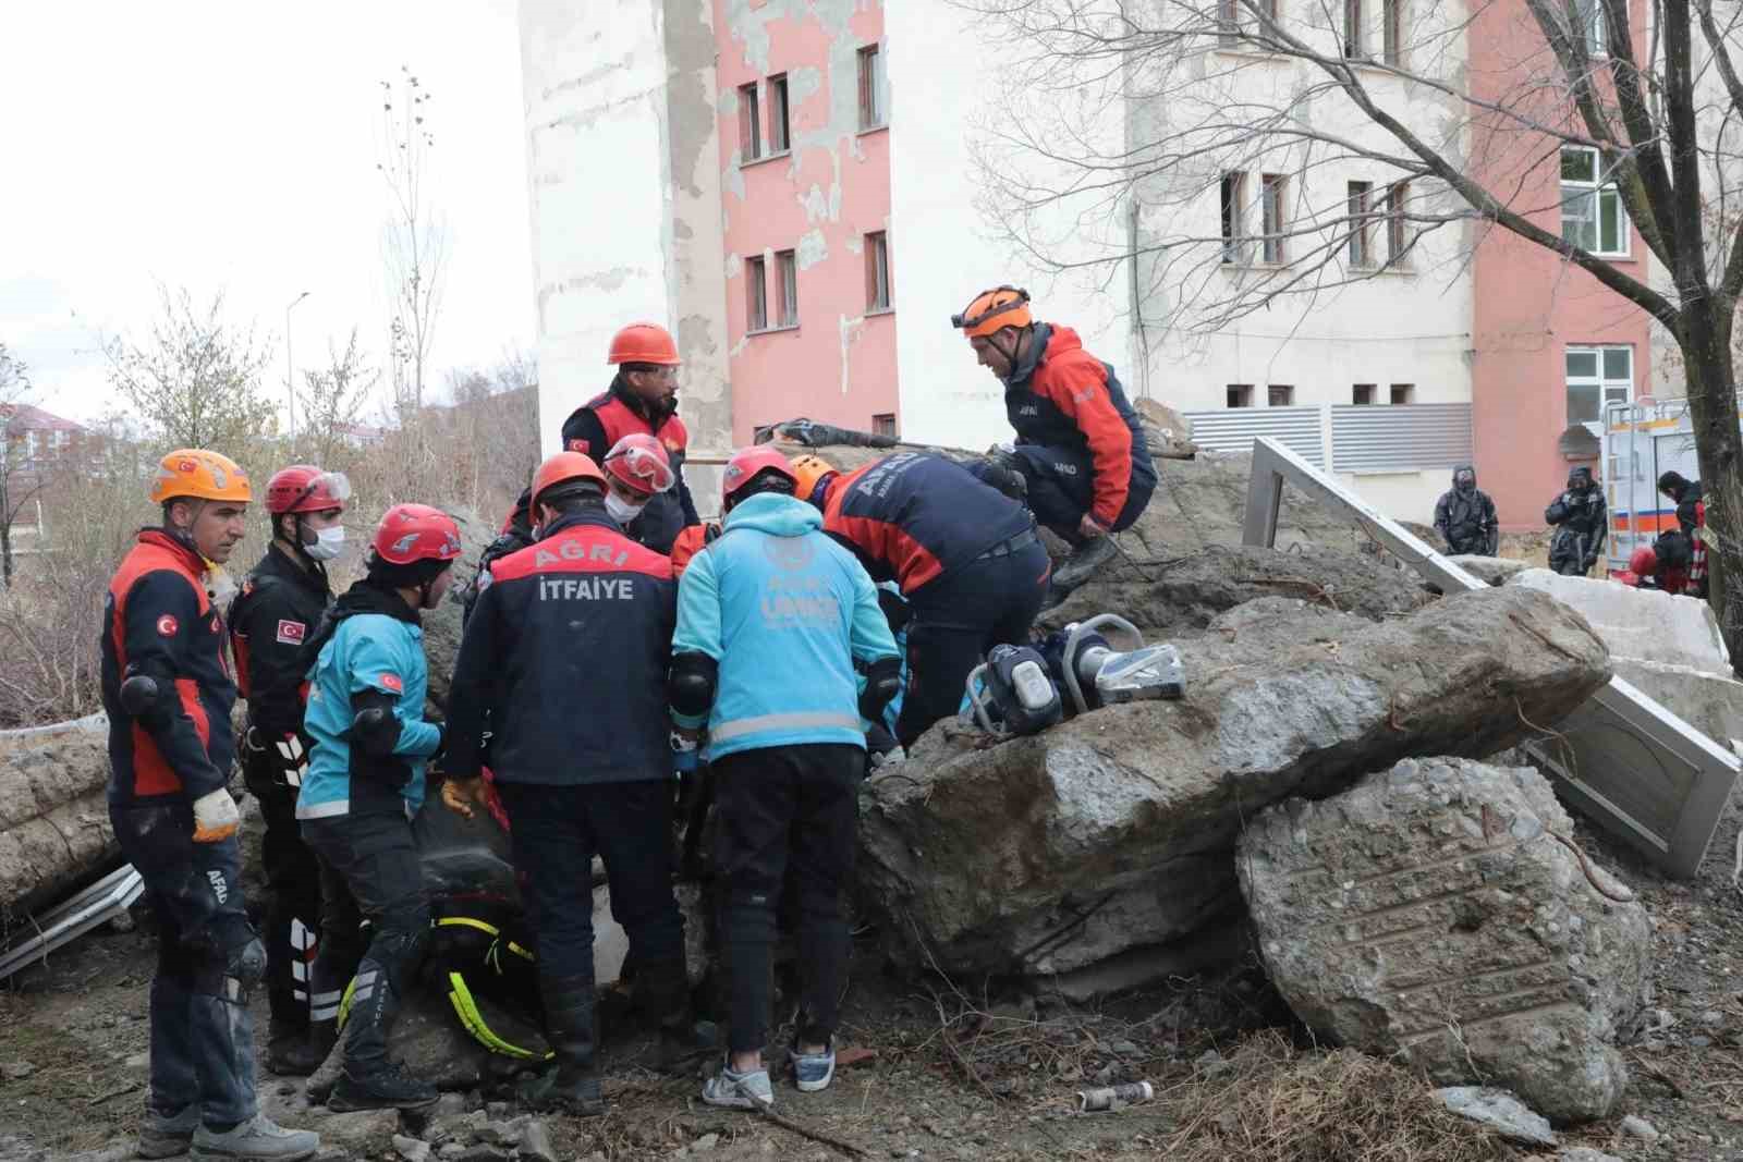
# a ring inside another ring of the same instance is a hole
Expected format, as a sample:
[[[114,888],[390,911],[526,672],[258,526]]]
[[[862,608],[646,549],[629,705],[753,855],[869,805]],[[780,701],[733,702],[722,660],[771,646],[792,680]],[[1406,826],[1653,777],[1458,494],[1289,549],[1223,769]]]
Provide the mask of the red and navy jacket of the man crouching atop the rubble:
[[[1082,348],[1070,328],[1037,322],[1028,352],[1004,383],[1016,443],[1088,449],[1095,465],[1089,514],[1112,528],[1133,484],[1156,486],[1143,423],[1114,368]]]

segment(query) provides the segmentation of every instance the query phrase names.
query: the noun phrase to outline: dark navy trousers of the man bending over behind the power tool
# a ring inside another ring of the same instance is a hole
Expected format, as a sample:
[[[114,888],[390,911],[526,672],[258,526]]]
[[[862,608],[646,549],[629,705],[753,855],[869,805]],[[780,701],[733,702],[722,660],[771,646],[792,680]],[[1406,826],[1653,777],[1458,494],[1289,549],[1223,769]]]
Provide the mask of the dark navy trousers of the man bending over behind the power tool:
[[[1034,542],[953,568],[908,598],[908,690],[896,742],[912,746],[927,726],[955,714],[969,671],[988,650],[1028,643],[1048,599],[1049,570],[1048,551]]]

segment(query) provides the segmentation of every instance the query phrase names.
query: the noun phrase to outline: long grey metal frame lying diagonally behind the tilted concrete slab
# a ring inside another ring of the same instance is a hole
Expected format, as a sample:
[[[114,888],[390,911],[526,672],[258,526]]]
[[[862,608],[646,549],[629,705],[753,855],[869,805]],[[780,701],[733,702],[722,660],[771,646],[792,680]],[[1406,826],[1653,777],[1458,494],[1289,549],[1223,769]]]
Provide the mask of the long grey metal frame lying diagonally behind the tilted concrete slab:
[[[1443,592],[1485,587],[1342,484],[1265,437],[1253,441],[1245,544],[1276,544],[1285,481],[1358,521]],[[1546,774],[1555,775],[1556,791],[1651,862],[1675,876],[1692,876],[1731,796],[1738,758],[1621,678],[1612,678],[1584,706],[1553,725],[1560,740],[1530,742],[1527,749]]]

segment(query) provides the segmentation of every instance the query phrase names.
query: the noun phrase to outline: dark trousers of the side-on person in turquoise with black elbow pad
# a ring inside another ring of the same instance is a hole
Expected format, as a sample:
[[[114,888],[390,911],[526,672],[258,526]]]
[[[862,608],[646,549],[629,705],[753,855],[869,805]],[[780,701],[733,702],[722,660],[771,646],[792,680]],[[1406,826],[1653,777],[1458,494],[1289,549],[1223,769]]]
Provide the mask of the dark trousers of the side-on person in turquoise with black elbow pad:
[[[429,948],[431,904],[418,845],[404,814],[305,819],[303,838],[321,857],[314,1017],[338,1016],[345,986],[356,979],[345,1066],[368,1073],[385,1064],[387,1030]]]

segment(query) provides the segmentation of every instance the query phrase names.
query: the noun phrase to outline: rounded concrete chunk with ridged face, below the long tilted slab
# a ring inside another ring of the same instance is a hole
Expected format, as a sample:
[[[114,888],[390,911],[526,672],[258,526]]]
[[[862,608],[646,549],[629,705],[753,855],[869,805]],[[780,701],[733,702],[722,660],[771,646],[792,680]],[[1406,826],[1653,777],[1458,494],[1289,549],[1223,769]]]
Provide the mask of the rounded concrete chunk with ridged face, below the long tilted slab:
[[[1536,770],[1403,760],[1265,810],[1236,868],[1271,979],[1319,1035],[1586,1122],[1628,1085],[1614,1040],[1652,923],[1569,834]]]

